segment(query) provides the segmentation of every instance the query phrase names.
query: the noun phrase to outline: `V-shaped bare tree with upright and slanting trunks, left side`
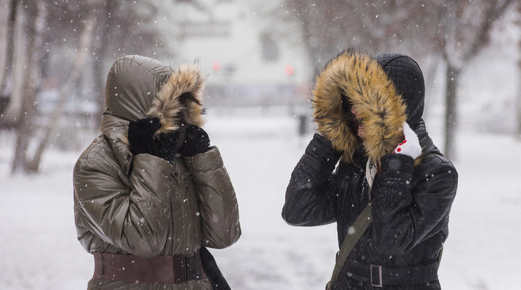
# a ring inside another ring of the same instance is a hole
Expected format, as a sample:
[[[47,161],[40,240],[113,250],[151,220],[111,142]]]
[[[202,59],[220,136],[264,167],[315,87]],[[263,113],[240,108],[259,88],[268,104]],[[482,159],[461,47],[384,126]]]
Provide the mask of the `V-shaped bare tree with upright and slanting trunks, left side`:
[[[92,0],[97,1],[97,0]],[[36,99],[41,90],[41,78],[47,73],[49,53],[44,50],[46,43],[50,42],[50,34],[46,34],[48,29],[48,11],[49,5],[47,1],[28,1],[25,3],[25,35],[26,47],[25,58],[25,74],[23,78],[23,92],[22,92],[22,106],[18,117],[17,138],[15,145],[15,155],[11,167],[11,172],[34,173],[38,171],[41,156],[46,149],[50,134],[56,130],[57,122],[62,113],[62,107],[67,100],[67,96],[73,85],[80,76],[83,66],[85,64],[85,53],[90,43],[90,36],[92,35],[92,26],[95,22],[92,14],[92,7],[85,4],[88,17],[81,22],[84,23],[83,31],[80,34],[79,47],[77,48],[74,64],[69,71],[67,81],[59,92],[55,109],[50,115],[50,123],[40,134],[36,134],[37,127],[35,124],[35,116],[38,113],[36,108]],[[38,129],[41,129],[38,127]],[[41,135],[41,139],[34,138],[35,135]],[[29,151],[29,143],[36,141],[36,151],[31,154]]]

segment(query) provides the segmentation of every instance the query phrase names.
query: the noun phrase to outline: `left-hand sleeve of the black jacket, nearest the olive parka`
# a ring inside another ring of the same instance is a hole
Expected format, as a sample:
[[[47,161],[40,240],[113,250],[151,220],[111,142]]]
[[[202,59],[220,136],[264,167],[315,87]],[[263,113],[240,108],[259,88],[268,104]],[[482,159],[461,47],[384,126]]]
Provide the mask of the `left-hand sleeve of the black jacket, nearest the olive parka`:
[[[282,218],[293,226],[320,226],[336,221],[333,170],[340,154],[320,134],[314,134],[291,173]]]

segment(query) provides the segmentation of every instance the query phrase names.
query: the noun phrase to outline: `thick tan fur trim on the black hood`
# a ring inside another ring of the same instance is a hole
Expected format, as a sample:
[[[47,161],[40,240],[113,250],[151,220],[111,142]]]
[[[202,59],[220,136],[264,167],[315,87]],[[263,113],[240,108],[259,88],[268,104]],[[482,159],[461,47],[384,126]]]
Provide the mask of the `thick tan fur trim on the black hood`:
[[[351,162],[358,144],[342,109],[342,95],[349,98],[363,120],[366,129],[363,145],[373,162],[379,162],[403,141],[405,104],[394,83],[369,55],[340,53],[317,76],[312,94],[318,132],[332,141],[335,150],[342,152],[345,162]]]

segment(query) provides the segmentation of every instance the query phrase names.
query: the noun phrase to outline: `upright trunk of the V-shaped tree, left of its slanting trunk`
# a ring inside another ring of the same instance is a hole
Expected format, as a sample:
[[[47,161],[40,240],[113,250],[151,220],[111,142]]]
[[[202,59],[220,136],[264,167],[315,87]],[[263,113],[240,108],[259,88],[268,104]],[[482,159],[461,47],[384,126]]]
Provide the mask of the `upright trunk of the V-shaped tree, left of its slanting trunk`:
[[[29,139],[32,137],[32,120],[36,114],[36,97],[39,92],[39,66],[43,57],[43,29],[46,22],[46,9],[41,1],[27,2],[26,4],[26,48],[25,72],[23,76],[23,92],[20,113],[18,114],[18,129],[15,154],[11,172],[18,170],[27,172],[27,150]]]

